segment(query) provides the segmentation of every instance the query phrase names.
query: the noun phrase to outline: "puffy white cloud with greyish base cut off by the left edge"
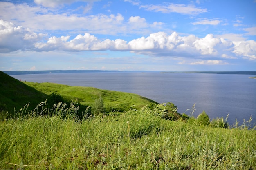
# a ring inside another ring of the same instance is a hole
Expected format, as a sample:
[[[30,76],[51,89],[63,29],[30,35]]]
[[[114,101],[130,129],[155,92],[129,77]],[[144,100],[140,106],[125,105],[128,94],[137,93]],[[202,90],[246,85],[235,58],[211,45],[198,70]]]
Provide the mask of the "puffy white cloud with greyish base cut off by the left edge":
[[[12,22],[0,20],[0,53],[30,50],[45,34],[37,34]]]

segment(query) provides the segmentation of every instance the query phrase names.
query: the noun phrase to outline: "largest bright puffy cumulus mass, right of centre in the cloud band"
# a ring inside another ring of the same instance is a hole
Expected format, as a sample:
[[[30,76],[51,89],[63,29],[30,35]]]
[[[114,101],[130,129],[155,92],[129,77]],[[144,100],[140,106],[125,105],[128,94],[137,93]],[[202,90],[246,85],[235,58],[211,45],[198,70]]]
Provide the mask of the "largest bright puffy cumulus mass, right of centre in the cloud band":
[[[130,50],[153,56],[216,56],[223,49],[229,49],[233,43],[223,38],[214,38],[212,34],[204,38],[194,35],[179,36],[176,32],[167,35],[164,32],[150,34],[128,42]],[[150,52],[149,52],[150,51]]]

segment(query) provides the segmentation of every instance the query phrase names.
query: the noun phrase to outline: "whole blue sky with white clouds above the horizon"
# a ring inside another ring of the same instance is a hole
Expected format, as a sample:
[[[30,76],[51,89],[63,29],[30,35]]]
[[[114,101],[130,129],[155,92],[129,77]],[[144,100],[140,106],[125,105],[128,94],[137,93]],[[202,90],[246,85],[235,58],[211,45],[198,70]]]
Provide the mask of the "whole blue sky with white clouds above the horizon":
[[[0,70],[256,71],[256,0],[0,0]]]

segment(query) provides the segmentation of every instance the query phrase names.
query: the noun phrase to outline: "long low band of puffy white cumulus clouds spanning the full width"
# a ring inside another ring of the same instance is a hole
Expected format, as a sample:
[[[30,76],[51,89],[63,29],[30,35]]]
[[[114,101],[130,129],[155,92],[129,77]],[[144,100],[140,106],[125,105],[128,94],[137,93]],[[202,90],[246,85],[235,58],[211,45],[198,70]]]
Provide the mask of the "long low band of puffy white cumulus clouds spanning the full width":
[[[141,20],[141,18],[131,18]],[[143,22],[143,19],[141,20]],[[129,42],[116,39],[98,39],[90,33],[67,36],[38,34],[12,22],[0,20],[0,52],[10,51],[131,51],[153,57],[198,58],[204,64],[225,64],[216,62],[238,57],[256,60],[256,42],[230,41],[208,34],[203,38],[195,35],[180,36],[173,32],[152,33],[148,37],[133,39]],[[44,38],[44,39],[43,39]],[[213,60],[214,59],[214,60]],[[200,64],[195,62],[194,64]],[[193,63],[193,62],[192,62]]]

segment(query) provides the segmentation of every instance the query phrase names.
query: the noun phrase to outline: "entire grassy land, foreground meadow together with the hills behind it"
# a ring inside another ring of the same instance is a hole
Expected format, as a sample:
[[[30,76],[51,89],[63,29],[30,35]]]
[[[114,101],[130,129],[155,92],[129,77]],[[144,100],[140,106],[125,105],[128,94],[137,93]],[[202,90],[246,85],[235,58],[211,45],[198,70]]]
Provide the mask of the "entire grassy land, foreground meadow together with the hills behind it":
[[[250,121],[226,127],[223,118],[210,121],[205,113],[195,118],[193,108],[180,115],[174,104],[135,94],[2,80],[1,170],[256,169],[256,130],[247,128]],[[34,106],[36,99],[54,96],[69,102]],[[3,109],[8,101],[22,104],[18,99],[35,101],[8,115]],[[97,106],[104,110],[90,110]]]

